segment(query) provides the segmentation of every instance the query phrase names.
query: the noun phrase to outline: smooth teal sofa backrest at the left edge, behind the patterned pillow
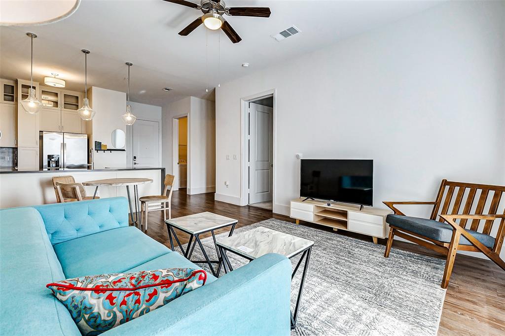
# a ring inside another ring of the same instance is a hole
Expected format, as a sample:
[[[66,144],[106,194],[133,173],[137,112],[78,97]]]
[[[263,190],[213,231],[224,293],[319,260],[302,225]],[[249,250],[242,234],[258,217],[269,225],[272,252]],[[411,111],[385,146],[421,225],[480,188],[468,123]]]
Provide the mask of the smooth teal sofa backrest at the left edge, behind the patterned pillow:
[[[0,334],[80,335],[67,309],[44,288],[64,278],[37,210],[0,210]]]

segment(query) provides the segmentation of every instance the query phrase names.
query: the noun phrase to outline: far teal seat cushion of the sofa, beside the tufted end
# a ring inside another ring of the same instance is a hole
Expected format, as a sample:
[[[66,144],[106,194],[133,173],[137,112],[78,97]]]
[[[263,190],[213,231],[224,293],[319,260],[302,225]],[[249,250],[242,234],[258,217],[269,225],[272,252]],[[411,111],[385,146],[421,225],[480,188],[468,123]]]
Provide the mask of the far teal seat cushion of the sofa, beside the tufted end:
[[[172,253],[168,247],[135,227],[99,232],[53,247],[67,278],[122,273],[151,259]]]

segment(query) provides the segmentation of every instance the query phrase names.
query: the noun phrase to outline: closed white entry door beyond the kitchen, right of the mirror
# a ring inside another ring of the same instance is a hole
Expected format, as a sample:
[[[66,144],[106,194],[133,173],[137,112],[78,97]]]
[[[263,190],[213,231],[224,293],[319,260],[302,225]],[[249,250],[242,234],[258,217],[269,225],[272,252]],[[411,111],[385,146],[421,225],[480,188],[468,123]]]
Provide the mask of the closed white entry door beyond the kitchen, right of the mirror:
[[[160,123],[138,120],[133,124],[133,164],[135,167],[160,166]]]

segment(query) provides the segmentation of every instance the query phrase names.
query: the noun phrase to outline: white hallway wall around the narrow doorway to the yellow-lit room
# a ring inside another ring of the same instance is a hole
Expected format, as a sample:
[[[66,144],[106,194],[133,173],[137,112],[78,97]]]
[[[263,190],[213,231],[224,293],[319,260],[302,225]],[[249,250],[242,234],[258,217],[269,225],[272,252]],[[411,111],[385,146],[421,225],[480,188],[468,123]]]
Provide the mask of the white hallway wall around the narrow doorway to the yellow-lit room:
[[[188,116],[188,194],[215,191],[215,103],[186,97],[163,107],[163,165],[173,172],[173,119]],[[175,160],[175,161],[174,161]]]

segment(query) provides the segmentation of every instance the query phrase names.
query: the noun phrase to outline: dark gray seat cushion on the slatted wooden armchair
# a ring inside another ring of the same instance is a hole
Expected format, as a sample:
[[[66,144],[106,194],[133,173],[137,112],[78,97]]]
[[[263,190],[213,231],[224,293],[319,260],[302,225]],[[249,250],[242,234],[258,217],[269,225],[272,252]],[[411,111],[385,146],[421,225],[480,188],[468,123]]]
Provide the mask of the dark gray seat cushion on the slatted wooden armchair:
[[[452,238],[452,227],[445,222],[402,215],[388,215],[386,221],[389,225],[437,240],[439,242],[450,243]],[[472,234],[472,236],[484,244],[484,246],[493,247],[494,237],[484,235],[483,233],[473,230],[467,230],[467,232]],[[460,244],[472,245],[472,243],[463,236],[460,238]]]

